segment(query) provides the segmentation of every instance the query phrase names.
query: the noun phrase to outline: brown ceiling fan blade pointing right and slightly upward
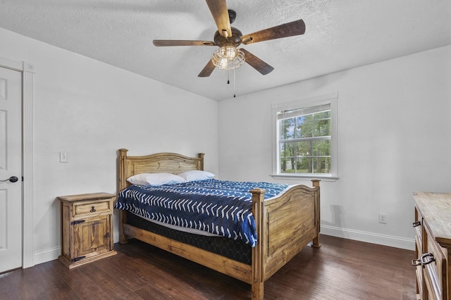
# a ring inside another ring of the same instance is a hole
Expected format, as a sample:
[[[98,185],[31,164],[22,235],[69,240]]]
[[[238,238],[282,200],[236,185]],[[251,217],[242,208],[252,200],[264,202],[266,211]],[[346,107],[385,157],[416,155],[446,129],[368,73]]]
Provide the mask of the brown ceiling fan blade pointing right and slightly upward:
[[[260,30],[250,35],[241,37],[242,44],[252,44],[268,41],[269,39],[280,39],[281,37],[292,37],[294,35],[304,35],[305,23],[302,19],[285,23],[275,27]]]

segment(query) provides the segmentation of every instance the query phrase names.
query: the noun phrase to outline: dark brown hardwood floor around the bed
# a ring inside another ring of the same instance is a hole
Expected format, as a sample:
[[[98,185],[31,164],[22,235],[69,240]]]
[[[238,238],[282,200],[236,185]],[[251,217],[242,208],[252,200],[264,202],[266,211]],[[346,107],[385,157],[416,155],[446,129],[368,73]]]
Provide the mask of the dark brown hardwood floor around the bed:
[[[416,299],[413,251],[321,236],[265,283],[265,299]],[[250,299],[250,285],[137,240],[68,270],[0,275],[0,299]]]

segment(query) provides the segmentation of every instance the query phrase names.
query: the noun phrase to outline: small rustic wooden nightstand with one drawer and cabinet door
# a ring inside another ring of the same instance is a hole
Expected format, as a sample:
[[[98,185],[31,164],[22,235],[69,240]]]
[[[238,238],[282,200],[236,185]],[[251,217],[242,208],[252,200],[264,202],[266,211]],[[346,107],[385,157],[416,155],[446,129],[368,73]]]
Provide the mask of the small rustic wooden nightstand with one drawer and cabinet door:
[[[75,268],[116,254],[113,250],[113,201],[107,193],[58,196],[61,201],[61,256]]]

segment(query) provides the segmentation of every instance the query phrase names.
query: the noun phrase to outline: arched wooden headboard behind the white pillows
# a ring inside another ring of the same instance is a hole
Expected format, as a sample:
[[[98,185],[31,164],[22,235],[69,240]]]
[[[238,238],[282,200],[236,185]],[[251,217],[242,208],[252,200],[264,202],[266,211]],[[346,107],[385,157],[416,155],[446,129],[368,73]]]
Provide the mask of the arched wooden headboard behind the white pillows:
[[[119,149],[119,191],[130,185],[127,178],[140,173],[172,173],[204,170],[204,154],[188,157],[175,153],[127,156],[128,149]]]

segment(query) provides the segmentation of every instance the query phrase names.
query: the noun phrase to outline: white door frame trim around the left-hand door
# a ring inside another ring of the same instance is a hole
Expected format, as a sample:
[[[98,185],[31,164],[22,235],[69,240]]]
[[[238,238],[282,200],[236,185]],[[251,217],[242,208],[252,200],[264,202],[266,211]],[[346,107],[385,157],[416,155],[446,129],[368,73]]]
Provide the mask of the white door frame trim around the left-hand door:
[[[25,61],[10,61],[0,57],[0,67],[22,73],[22,268],[35,265],[33,221],[33,99],[35,67]]]

